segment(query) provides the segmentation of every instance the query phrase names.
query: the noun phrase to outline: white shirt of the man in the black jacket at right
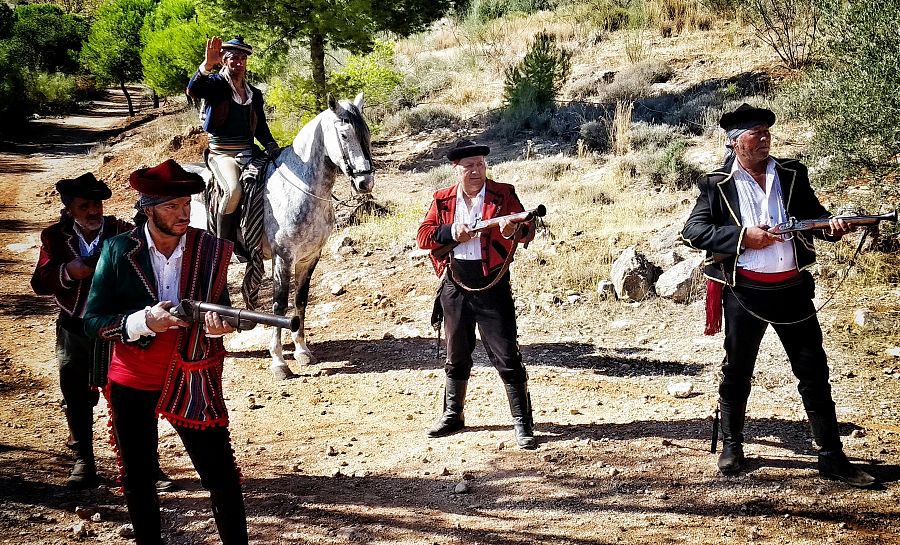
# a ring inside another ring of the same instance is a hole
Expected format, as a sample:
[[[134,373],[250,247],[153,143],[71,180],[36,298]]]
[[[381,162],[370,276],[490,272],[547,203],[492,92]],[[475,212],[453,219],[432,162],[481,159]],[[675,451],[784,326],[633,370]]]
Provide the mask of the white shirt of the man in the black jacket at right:
[[[788,220],[784,209],[781,182],[775,172],[775,160],[771,157],[766,164],[766,189],[763,191],[756,180],[744,170],[737,159],[731,167],[734,183],[741,206],[741,225],[773,227]],[[738,256],[737,266],[748,271],[776,273],[797,268],[793,241],[776,242],[761,250],[747,249]]]

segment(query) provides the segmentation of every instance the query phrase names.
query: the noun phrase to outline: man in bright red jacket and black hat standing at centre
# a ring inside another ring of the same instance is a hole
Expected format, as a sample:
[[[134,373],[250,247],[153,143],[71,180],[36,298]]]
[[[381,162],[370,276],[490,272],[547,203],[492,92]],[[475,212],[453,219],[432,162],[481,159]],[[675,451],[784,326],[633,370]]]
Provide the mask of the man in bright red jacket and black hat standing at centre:
[[[460,140],[450,150],[447,158],[457,183],[434,194],[416,235],[419,247],[428,250],[458,243],[445,259],[432,255],[435,272],[442,278],[438,303],[447,338],[447,379],[444,412],[428,435],[442,437],[465,426],[463,406],[477,325],[488,358],[506,388],[516,442],[532,449],[537,443],[528,375],[516,341],[515,305],[504,264],[517,242],[527,244],[534,238],[534,229],[530,223],[502,220],[499,229],[472,231],[478,220],[524,211],[512,185],[487,179],[484,158],[488,153],[487,146],[471,140]]]

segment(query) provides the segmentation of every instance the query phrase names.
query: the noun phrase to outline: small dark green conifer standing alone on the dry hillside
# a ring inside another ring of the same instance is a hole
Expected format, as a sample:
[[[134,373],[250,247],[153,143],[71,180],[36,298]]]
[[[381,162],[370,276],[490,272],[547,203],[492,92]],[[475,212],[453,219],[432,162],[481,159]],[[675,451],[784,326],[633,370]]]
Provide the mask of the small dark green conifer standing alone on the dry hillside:
[[[527,125],[534,114],[552,109],[571,69],[571,51],[557,46],[547,32],[535,36],[525,58],[505,71],[503,98],[507,121]]]

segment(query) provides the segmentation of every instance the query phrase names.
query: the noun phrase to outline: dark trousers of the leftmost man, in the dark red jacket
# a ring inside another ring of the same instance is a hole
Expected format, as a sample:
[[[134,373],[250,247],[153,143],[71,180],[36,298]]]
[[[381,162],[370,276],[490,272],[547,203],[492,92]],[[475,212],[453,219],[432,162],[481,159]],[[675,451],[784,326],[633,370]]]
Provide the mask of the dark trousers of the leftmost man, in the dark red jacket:
[[[93,458],[94,406],[99,392],[90,385],[93,342],[84,334],[84,323],[60,313],[56,320],[56,358],[59,389],[66,403],[69,447],[79,457]]]

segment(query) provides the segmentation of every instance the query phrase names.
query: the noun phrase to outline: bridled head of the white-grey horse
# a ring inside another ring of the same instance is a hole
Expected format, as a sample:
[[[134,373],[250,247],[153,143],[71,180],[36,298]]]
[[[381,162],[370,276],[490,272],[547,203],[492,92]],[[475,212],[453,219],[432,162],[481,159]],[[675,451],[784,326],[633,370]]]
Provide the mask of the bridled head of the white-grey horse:
[[[325,151],[331,162],[350,177],[357,193],[369,193],[375,185],[369,126],[362,116],[363,95],[338,102],[328,97],[331,123],[323,123]]]

